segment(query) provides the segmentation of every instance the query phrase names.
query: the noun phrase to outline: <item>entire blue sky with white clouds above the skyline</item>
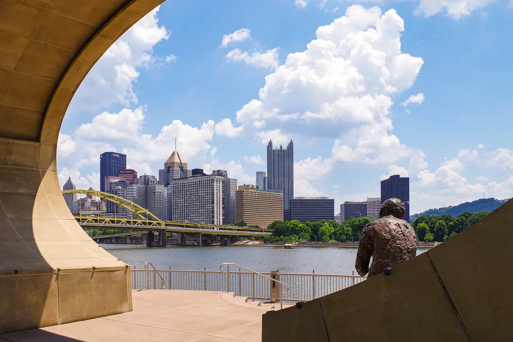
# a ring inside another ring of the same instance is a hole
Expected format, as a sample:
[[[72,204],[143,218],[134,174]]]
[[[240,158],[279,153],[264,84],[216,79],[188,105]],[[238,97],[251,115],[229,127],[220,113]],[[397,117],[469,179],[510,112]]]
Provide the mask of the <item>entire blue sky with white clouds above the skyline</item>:
[[[337,213],[397,173],[412,213],[509,198],[512,20],[488,0],[168,0],[78,89],[60,180],[98,188],[104,151],[157,175],[176,137],[191,168],[254,183],[272,138],[294,141],[295,195]]]

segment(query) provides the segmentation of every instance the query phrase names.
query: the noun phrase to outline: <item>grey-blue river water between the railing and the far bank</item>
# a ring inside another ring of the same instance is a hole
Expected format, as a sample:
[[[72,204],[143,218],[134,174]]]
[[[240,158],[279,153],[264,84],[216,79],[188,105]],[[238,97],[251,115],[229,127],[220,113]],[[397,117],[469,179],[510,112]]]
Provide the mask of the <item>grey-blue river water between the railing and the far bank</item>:
[[[101,244],[111,254],[142,269],[151,261],[157,269],[219,271],[223,263],[236,263],[258,272],[277,270],[286,273],[345,274],[354,271],[357,248],[351,247],[281,247],[213,246],[147,248],[140,245]],[[426,249],[417,249],[417,254]]]

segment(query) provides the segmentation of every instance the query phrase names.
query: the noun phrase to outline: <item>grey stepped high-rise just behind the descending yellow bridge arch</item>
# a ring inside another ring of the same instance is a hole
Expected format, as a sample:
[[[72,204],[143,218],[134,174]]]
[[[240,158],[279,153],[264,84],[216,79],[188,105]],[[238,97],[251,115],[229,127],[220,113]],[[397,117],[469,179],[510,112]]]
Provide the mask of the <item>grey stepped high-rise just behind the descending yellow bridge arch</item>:
[[[168,217],[168,191],[155,176],[142,175],[137,178],[137,184],[132,184],[127,189],[127,199],[148,209],[153,215],[166,220]]]

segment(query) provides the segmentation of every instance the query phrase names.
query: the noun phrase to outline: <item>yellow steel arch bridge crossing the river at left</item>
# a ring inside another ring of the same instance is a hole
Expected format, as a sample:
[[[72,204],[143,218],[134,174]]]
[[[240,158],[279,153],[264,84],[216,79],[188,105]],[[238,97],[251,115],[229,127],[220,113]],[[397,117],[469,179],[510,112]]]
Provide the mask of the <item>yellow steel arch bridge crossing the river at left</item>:
[[[117,206],[127,209],[129,217],[104,217],[93,215],[75,215],[74,218],[85,229],[118,229],[131,231],[158,232],[160,235],[165,233],[182,233],[182,234],[210,234],[210,235],[232,235],[232,236],[263,236],[272,235],[267,229],[253,227],[235,227],[223,225],[209,225],[190,222],[171,222],[161,220],[153,215],[149,210],[137,205],[130,200],[96,190],[64,190],[63,194],[83,194],[87,196],[99,197],[109,200]],[[127,215],[128,216],[128,215]],[[124,236],[132,233],[112,234],[111,236]],[[134,235],[134,234],[133,234]],[[92,236],[93,239],[105,238],[107,236]],[[161,245],[164,243],[162,242]]]

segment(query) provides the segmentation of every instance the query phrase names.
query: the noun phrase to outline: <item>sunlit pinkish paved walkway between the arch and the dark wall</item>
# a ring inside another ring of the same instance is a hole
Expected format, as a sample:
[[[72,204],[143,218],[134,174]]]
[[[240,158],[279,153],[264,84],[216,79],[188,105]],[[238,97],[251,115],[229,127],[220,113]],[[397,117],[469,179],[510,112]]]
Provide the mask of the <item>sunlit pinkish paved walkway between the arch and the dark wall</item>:
[[[260,342],[264,308],[230,303],[222,292],[133,292],[133,311],[0,336],[0,342]]]

